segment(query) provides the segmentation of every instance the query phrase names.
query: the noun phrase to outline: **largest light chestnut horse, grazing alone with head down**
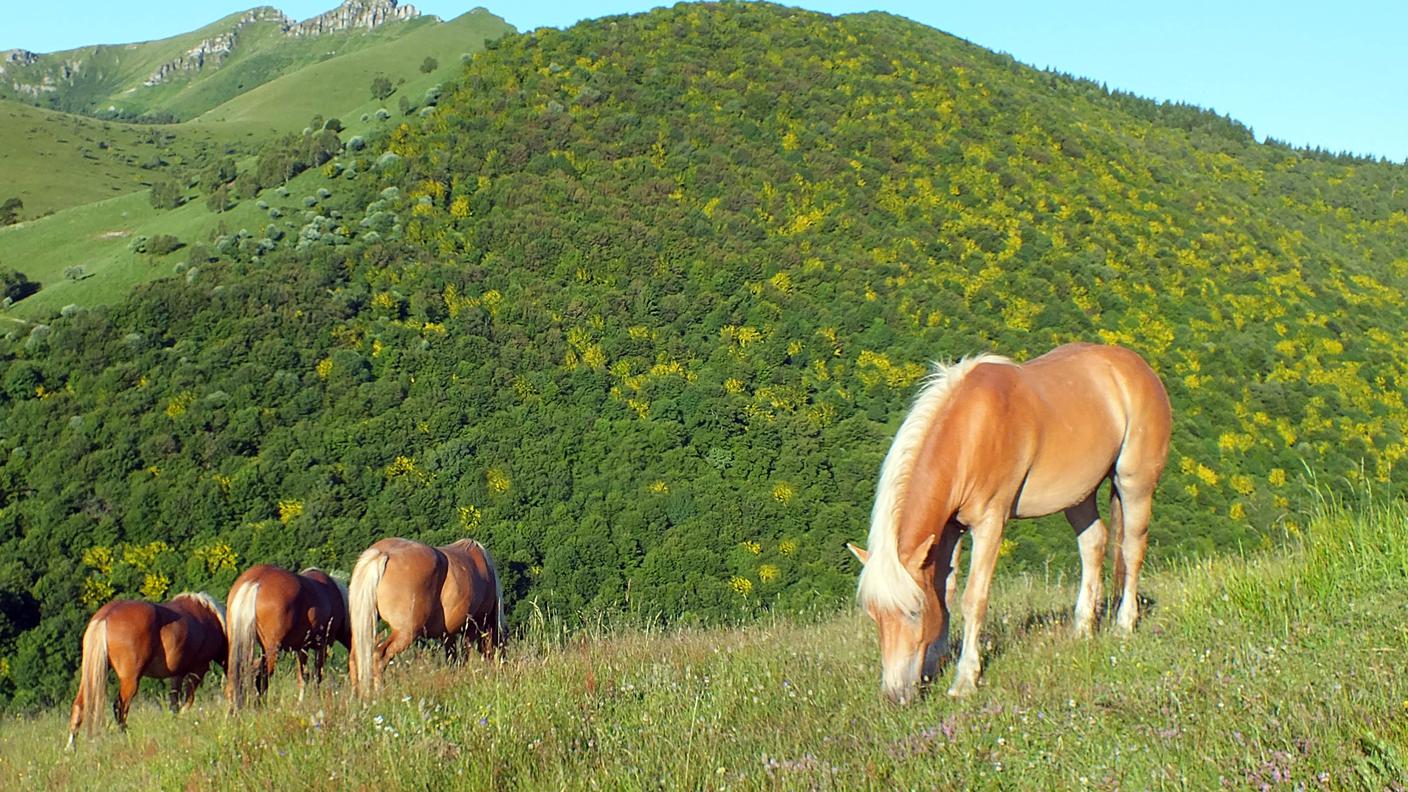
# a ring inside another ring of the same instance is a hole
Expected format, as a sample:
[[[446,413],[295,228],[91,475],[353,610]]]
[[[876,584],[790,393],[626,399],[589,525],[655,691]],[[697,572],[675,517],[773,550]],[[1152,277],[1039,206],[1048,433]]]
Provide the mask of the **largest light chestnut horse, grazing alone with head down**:
[[[1118,624],[1139,617],[1139,568],[1173,421],[1159,375],[1119,347],[1070,344],[1017,365],[981,355],[936,366],[880,468],[857,595],[880,631],[883,689],[907,702],[948,654],[959,538],[973,534],[963,647],[949,695],[972,693],[1002,526],[1064,512],[1080,545],[1076,630],[1101,599],[1105,524],[1095,489],[1111,479]],[[939,586],[943,590],[939,590]],[[942,596],[941,596],[942,595]]]

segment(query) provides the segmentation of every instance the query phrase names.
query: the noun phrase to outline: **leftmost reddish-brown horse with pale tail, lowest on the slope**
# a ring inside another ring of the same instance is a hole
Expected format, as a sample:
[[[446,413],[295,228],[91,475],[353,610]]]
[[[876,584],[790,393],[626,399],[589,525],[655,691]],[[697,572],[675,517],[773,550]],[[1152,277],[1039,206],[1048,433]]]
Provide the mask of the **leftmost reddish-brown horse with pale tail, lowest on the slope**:
[[[97,727],[107,703],[108,664],[118,682],[113,713],[117,724],[127,729],[127,709],[142,676],[170,679],[175,712],[190,706],[211,662],[225,664],[225,609],[210,595],[179,593],[162,605],[131,599],[104,605],[83,633],[83,667],[69,720],[69,747],[84,720],[90,733]]]

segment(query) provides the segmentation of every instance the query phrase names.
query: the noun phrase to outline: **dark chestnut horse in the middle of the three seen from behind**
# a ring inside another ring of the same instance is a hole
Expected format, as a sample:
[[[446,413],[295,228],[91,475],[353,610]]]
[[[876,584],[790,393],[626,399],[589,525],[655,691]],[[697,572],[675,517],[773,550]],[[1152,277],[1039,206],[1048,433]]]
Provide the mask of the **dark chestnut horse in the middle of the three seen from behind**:
[[[322,683],[322,665],[332,641],[351,647],[348,592],[321,569],[294,575],[280,567],[251,567],[230,588],[225,617],[230,637],[230,671],[225,696],[231,706],[244,706],[253,682],[262,696],[269,686],[279,650],[298,658],[298,700],[303,700],[303,668],[313,652],[313,678]],[[263,661],[255,667],[255,643],[263,647]]]

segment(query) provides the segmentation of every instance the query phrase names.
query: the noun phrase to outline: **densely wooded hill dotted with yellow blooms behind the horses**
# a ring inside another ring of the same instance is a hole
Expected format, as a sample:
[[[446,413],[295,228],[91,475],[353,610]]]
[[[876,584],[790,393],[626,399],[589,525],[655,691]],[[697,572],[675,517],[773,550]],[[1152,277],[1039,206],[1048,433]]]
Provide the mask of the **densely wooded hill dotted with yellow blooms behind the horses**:
[[[510,620],[835,606],[917,382],[980,351],[1162,373],[1155,564],[1294,534],[1308,478],[1402,481],[1408,168],[903,18],[505,37],[315,171],[301,214],[0,345],[4,706],[68,693],[111,596],[384,536],[484,541]],[[1076,558],[1060,520],[1004,557]]]

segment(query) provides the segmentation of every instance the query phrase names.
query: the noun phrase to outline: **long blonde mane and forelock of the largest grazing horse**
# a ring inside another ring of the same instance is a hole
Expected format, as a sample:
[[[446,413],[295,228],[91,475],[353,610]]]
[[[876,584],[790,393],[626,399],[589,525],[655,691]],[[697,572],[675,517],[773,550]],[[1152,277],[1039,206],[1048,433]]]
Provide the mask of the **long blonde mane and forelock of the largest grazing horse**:
[[[924,605],[924,590],[900,559],[900,510],[919,448],[924,447],[939,410],[948,403],[953,388],[983,364],[1011,365],[1012,361],[1001,355],[976,355],[956,364],[935,362],[890,444],[884,464],[880,465],[876,503],[870,510],[870,537],[866,540],[870,558],[860,569],[856,585],[856,596],[865,607],[915,613]]]

